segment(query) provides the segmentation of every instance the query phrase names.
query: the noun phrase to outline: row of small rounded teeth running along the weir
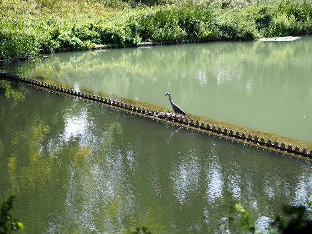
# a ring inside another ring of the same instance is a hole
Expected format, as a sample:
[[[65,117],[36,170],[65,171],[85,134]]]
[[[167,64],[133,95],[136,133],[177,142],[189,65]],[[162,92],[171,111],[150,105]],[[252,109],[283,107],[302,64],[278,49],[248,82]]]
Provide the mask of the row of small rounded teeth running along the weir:
[[[268,139],[267,142],[265,142],[264,137],[259,139],[258,136],[255,136],[253,138],[251,134],[249,134],[247,136],[244,132],[242,134],[240,134],[239,131],[236,131],[234,133],[233,130],[228,131],[227,128],[224,128],[222,130],[221,127],[218,127],[218,129],[217,129],[217,127],[215,125],[213,125],[211,127],[210,124],[205,125],[204,122],[202,122],[200,124],[199,121],[194,122],[193,119],[188,119],[186,117],[178,117],[178,116],[173,117],[172,115],[167,115],[167,114],[164,114],[162,112],[160,112],[160,113],[154,112],[154,110],[150,111],[149,109],[146,110],[145,108],[141,109],[141,107],[137,108],[136,105],[132,106],[131,104],[128,105],[128,103],[124,104],[123,102],[120,103],[119,101],[116,102],[115,100],[111,100],[111,99],[107,99],[107,98],[103,98],[103,97],[100,98],[99,96],[96,97],[95,95],[92,96],[91,94],[88,95],[88,93],[86,93],[86,94],[84,92],[80,93],[80,91],[77,92],[77,91],[74,91],[72,89],[59,87],[59,86],[56,86],[53,84],[50,85],[50,84],[43,83],[43,82],[37,81],[37,80],[31,80],[31,79],[28,79],[28,78],[26,79],[26,78],[22,78],[22,77],[20,77],[19,79],[22,82],[29,83],[29,84],[32,84],[35,86],[40,86],[40,87],[43,87],[46,89],[58,91],[61,93],[77,96],[80,98],[84,98],[84,99],[88,99],[88,100],[92,100],[95,102],[100,102],[100,103],[104,103],[104,104],[108,104],[108,105],[112,105],[112,106],[117,106],[120,108],[128,109],[130,111],[141,113],[141,114],[148,115],[148,116],[159,117],[162,119],[169,119],[170,121],[185,124],[185,125],[188,125],[188,126],[191,126],[194,128],[207,130],[210,132],[214,132],[214,133],[225,135],[225,136],[234,137],[234,138],[241,139],[241,140],[246,140],[248,142],[253,142],[256,144],[263,145],[263,146],[272,147],[275,149],[280,149],[281,151],[287,151],[289,153],[300,154],[304,157],[312,157],[312,150],[310,151],[310,153],[308,153],[306,148],[303,148],[303,150],[301,151],[298,146],[296,146],[295,149],[293,149],[291,144],[289,144],[286,147],[285,143],[279,144],[278,141],[274,141],[274,143],[273,143],[271,141],[271,139]]]

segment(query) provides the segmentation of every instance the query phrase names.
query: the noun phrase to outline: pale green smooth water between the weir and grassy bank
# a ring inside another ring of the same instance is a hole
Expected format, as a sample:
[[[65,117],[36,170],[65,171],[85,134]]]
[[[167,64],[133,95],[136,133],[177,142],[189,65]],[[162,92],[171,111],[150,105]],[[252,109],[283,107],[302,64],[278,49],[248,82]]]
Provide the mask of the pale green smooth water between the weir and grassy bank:
[[[169,106],[312,142],[312,36],[49,55],[5,68],[26,77]]]

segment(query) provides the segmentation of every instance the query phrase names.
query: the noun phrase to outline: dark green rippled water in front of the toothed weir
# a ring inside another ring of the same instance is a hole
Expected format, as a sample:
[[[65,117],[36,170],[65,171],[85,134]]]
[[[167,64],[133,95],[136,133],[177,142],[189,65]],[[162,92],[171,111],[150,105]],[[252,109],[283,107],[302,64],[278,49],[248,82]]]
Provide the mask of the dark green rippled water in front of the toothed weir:
[[[312,193],[311,163],[0,82],[0,201],[25,233],[218,233]]]

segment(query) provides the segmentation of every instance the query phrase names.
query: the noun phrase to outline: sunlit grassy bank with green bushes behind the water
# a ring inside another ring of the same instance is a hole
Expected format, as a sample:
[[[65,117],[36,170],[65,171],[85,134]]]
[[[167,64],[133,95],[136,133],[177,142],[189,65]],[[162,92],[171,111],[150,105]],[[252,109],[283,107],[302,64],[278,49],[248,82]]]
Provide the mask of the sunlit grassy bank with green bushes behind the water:
[[[0,60],[138,46],[253,40],[312,31],[312,0],[0,0]]]

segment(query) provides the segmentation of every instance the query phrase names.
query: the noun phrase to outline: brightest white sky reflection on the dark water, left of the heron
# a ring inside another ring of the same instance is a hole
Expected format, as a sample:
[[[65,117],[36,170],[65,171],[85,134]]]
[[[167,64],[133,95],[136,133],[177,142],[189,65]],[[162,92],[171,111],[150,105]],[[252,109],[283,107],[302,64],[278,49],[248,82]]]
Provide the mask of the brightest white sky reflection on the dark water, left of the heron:
[[[77,117],[68,117],[65,122],[64,141],[69,141],[72,137],[78,137],[85,133],[89,126],[87,112],[81,111]]]

